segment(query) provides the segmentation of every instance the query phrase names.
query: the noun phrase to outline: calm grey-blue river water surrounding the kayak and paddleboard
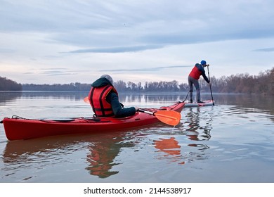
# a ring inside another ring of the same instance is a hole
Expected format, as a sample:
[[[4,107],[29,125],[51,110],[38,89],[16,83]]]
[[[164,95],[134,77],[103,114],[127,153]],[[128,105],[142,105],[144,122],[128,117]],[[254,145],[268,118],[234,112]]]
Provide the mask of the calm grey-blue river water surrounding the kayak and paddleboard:
[[[87,92],[0,91],[0,120],[93,115]],[[159,107],[186,93],[120,95]],[[202,94],[202,99],[211,98]],[[183,108],[181,125],[8,141],[0,124],[0,182],[274,182],[274,98],[214,94],[215,106]]]

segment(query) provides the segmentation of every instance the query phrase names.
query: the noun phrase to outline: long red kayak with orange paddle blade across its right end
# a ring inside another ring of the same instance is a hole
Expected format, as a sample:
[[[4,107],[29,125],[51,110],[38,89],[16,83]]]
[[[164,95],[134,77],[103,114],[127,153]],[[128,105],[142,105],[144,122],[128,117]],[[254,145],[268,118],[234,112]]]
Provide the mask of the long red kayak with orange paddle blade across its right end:
[[[64,134],[91,134],[94,132],[112,132],[122,129],[144,127],[157,122],[169,125],[178,124],[181,119],[181,110],[185,103],[178,102],[172,106],[161,108],[147,108],[138,111],[130,117],[75,117],[60,119],[26,119],[18,116],[5,117],[2,121],[8,140],[32,139],[43,136]],[[171,112],[177,112],[174,117]]]

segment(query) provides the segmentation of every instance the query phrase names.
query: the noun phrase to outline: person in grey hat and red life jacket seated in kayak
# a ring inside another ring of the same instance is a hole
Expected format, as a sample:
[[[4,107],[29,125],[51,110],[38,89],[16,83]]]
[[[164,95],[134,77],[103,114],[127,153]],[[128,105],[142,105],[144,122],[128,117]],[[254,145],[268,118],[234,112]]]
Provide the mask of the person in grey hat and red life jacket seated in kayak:
[[[91,84],[89,103],[98,117],[126,117],[134,115],[138,110],[137,107],[124,108],[123,104],[119,102],[118,92],[113,87],[110,75],[102,75]]]

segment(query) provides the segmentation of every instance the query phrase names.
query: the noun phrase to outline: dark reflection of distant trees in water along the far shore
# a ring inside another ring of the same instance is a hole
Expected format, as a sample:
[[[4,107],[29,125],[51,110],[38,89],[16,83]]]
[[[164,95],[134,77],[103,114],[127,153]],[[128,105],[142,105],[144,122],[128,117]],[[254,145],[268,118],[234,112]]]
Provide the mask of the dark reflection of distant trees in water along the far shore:
[[[83,101],[89,92],[86,91],[0,91],[0,106],[12,103],[18,99],[63,99],[69,101]],[[121,102],[129,103],[171,103],[183,101],[187,92],[168,94],[119,94]],[[202,100],[211,99],[210,94],[202,94]],[[240,106],[242,108],[256,108],[267,110],[274,115],[272,96],[254,94],[214,94],[216,105]]]

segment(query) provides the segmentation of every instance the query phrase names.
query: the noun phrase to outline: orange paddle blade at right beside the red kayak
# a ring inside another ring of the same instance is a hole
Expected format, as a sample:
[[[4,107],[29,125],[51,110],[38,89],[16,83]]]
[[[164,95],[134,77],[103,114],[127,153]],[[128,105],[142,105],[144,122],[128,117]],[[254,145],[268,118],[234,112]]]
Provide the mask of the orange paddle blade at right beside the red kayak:
[[[181,120],[181,113],[178,113],[176,111],[159,110],[154,113],[154,115],[159,121],[172,126],[178,125]]]

